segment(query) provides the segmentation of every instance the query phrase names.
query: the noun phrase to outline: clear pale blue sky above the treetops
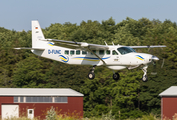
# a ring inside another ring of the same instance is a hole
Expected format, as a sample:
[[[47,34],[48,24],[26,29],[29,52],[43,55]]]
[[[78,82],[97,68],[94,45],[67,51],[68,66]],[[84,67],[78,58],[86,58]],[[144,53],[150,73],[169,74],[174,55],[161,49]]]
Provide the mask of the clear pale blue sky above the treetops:
[[[0,27],[31,30],[31,21],[42,28],[65,22],[108,20],[116,23],[130,17],[177,22],[177,0],[0,0]]]

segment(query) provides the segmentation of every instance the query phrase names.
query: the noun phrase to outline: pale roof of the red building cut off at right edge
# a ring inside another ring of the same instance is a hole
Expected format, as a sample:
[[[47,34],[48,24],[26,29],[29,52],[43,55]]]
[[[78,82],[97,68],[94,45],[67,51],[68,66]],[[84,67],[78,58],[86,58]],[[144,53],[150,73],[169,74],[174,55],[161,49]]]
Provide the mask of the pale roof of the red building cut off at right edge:
[[[159,96],[177,96],[177,86],[171,86],[162,93],[159,94]]]

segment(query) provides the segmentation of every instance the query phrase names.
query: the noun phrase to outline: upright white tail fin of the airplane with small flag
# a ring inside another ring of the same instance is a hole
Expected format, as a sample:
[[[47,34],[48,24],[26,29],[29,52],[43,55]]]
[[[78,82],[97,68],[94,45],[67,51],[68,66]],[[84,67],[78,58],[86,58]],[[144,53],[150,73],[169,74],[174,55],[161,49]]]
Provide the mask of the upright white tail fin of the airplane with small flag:
[[[45,39],[38,21],[31,22],[32,29],[32,48],[44,48],[46,42],[39,39]]]

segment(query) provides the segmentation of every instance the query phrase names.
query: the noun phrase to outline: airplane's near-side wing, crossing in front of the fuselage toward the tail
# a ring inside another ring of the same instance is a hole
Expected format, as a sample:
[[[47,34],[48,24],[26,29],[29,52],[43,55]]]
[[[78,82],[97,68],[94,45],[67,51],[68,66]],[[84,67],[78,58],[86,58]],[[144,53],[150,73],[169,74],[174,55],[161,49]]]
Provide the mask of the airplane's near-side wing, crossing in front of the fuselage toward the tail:
[[[98,45],[98,44],[89,44],[85,42],[75,42],[75,41],[66,41],[66,40],[56,40],[56,39],[40,39],[42,41],[53,42],[55,45],[71,48],[71,49],[94,49],[94,50],[107,50],[109,49],[106,45]]]

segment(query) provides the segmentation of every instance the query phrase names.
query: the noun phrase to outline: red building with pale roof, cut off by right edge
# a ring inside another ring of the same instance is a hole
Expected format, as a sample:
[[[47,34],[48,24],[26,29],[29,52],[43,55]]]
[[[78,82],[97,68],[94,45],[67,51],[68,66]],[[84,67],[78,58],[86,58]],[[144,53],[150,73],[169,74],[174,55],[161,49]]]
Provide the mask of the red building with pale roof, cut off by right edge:
[[[162,93],[161,96],[161,116],[167,119],[177,117],[177,86],[171,86]]]

